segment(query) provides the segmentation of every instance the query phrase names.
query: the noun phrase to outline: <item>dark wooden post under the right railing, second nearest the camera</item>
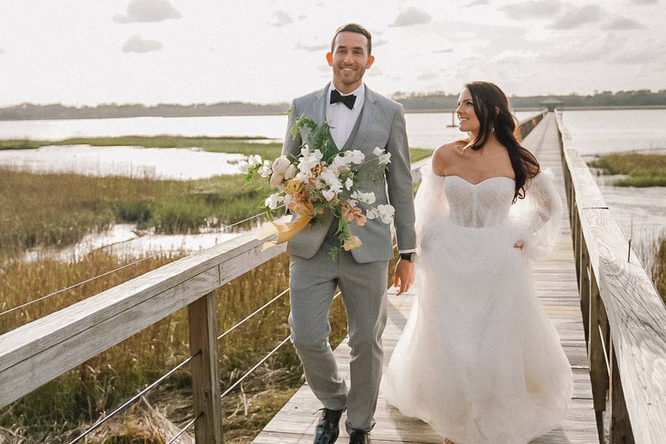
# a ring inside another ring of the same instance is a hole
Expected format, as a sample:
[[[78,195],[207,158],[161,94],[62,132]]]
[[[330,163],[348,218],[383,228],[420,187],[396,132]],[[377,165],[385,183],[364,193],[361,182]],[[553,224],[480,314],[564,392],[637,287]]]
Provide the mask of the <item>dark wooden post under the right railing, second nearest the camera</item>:
[[[589,272],[588,272],[589,273]],[[604,442],[604,411],[610,376],[606,344],[608,343],[608,317],[604,302],[599,295],[599,287],[594,273],[590,273],[590,332],[588,337],[588,362],[590,364],[590,382],[592,399],[595,404],[597,432],[599,442]]]

